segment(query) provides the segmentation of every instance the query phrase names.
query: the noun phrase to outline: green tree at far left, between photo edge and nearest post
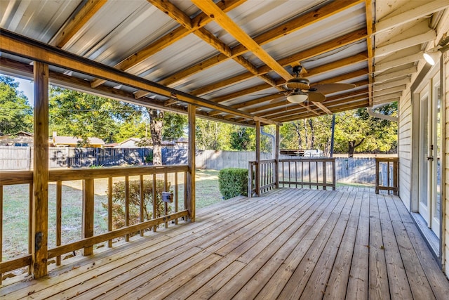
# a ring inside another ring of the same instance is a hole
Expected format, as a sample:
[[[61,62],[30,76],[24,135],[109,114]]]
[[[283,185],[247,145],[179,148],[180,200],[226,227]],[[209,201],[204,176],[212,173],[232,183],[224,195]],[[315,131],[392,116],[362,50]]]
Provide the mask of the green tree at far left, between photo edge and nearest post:
[[[0,75],[0,136],[33,131],[33,110],[12,77]]]

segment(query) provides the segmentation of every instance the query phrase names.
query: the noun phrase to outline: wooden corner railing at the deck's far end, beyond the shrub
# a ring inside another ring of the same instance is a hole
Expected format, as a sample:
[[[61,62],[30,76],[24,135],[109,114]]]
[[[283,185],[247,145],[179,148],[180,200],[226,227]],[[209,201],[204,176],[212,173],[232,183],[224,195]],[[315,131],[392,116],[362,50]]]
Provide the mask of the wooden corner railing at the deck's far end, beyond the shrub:
[[[278,163],[268,159],[260,161],[258,166],[257,162],[249,162],[248,195],[260,195],[280,185],[335,190],[335,159],[292,158],[279,159]]]

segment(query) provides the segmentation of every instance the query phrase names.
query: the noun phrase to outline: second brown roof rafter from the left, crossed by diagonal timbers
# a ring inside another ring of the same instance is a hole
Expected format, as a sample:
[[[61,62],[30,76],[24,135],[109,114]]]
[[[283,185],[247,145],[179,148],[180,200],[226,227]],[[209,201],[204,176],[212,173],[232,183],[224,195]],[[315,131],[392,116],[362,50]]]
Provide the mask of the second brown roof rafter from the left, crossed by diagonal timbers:
[[[220,1],[217,5],[220,6],[223,11],[231,11],[233,8],[239,6],[245,1],[246,0]],[[187,35],[192,33],[194,30],[198,30],[211,21],[212,19],[208,15],[206,15],[205,13],[199,13],[199,15],[196,15],[196,17],[192,19],[192,25],[194,25],[192,27],[192,30],[187,30],[185,27],[177,27],[174,30],[168,32],[168,34],[165,34],[163,35],[163,37],[160,37],[156,41],[152,42],[152,44],[149,44],[140,49],[140,51],[128,56],[128,58],[125,58],[114,67],[122,71],[127,71],[135,65],[138,65],[138,63],[141,63],[143,60],[146,60],[150,56],[161,51],[163,48],[166,48],[175,43],[175,41],[179,41],[183,37],[187,37]],[[104,83],[104,79],[94,79],[91,82],[91,86],[95,87]]]

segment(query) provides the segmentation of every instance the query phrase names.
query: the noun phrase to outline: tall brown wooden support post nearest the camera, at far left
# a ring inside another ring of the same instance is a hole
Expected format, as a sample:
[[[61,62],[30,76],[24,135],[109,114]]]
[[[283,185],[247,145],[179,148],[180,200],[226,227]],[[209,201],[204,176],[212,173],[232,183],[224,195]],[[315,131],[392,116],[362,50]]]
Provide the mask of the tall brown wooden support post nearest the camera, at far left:
[[[34,62],[32,273],[47,275],[48,250],[48,65]]]

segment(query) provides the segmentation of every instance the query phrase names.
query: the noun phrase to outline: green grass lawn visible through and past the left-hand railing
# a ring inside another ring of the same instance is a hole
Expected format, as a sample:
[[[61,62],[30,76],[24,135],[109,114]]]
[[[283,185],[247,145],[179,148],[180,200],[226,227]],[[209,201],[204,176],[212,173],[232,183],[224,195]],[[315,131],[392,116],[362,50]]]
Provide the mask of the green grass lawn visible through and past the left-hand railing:
[[[208,207],[223,201],[218,190],[218,173],[215,170],[196,170],[196,207]],[[62,186],[62,244],[81,239],[82,193],[81,181]],[[180,209],[182,209],[182,188],[180,185]],[[107,231],[107,183],[95,181],[95,235]],[[3,252],[2,259],[28,253],[28,211],[29,185],[4,186]],[[48,186],[48,247],[56,245],[56,185]]]

